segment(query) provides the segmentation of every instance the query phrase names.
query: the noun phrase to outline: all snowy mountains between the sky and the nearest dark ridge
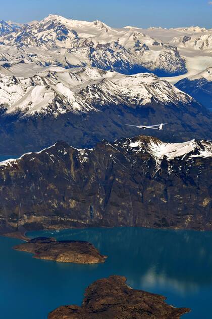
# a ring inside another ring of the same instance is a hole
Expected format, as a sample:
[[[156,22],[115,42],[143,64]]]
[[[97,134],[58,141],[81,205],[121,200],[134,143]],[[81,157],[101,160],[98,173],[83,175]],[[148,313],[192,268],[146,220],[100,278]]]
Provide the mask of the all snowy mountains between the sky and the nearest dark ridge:
[[[118,29],[58,15],[23,25],[1,21],[0,154],[37,151],[59,139],[91,147],[139,133],[126,124],[168,123],[154,130],[164,141],[210,139],[203,99],[170,83],[212,63],[211,34],[200,27]],[[201,87],[204,98],[208,88]]]

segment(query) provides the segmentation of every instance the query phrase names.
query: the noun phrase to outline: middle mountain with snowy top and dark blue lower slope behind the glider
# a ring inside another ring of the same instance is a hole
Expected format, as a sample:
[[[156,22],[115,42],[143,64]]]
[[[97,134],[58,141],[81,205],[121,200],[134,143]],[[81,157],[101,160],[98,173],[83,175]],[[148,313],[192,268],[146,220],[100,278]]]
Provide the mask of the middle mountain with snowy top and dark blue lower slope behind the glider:
[[[19,64],[11,67],[17,70]],[[57,66],[31,74],[15,76],[2,65],[1,154],[38,151],[59,139],[92,147],[103,138],[138,134],[126,124],[168,123],[166,130],[154,130],[166,141],[211,137],[210,112],[154,74]]]

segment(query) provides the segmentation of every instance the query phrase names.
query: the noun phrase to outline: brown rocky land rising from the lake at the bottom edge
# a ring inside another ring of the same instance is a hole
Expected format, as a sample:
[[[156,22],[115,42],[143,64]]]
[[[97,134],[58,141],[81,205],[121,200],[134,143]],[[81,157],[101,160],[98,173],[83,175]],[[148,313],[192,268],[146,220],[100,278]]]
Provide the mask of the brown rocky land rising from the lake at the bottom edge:
[[[82,306],[62,306],[52,311],[48,319],[171,319],[190,311],[164,302],[166,297],[135,290],[127,286],[123,276],[97,280],[85,291]]]

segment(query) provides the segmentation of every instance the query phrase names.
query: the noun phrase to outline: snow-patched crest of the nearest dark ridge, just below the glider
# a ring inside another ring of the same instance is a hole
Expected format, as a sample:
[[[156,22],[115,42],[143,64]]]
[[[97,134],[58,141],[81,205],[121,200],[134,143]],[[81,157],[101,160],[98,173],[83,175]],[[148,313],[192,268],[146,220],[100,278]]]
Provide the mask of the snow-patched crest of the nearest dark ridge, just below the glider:
[[[128,138],[124,140],[116,140],[114,143],[108,143],[107,141],[102,141],[102,143],[108,144],[110,147],[113,147],[117,150],[120,150],[128,156],[134,153],[149,153],[155,160],[157,164],[163,161],[166,158],[168,161],[174,160],[178,158],[178,160],[184,160],[187,156],[186,161],[190,161],[195,157],[207,158],[212,157],[212,142],[211,141],[197,141],[191,140],[183,143],[164,143],[161,140],[154,137],[144,137],[138,136],[135,138]],[[56,149],[55,149],[56,148]],[[95,151],[95,147],[88,148],[75,148],[65,144],[63,142],[57,142],[52,146],[42,149],[39,152],[29,152],[23,154],[20,158],[17,159],[9,159],[3,162],[0,162],[0,167],[13,167],[18,164],[23,157],[26,155],[33,155],[29,161],[35,160],[36,157],[34,155],[38,155],[41,153],[46,153],[51,157],[51,161],[54,162],[54,158],[56,156],[65,156],[68,152],[68,149],[75,149],[78,152],[79,158],[81,162],[86,162],[88,160],[88,151]],[[51,152],[52,151],[52,152]],[[56,155],[57,154],[57,155]]]

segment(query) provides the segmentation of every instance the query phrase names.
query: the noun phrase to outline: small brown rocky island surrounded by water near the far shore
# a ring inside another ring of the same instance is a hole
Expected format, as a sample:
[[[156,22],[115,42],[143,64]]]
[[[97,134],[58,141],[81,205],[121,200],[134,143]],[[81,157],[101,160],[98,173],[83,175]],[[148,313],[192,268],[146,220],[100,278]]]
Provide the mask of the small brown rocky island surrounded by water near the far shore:
[[[107,258],[88,242],[57,241],[50,237],[37,237],[28,243],[15,246],[14,249],[32,253],[34,258],[77,264],[96,264]]]

